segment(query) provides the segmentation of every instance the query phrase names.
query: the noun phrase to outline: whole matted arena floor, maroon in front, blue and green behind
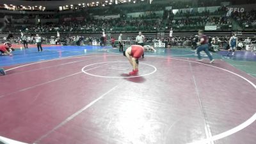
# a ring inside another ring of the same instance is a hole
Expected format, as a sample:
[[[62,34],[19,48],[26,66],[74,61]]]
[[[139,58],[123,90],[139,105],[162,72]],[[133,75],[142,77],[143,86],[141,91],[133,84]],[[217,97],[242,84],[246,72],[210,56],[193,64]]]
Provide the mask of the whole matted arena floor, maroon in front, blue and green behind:
[[[86,49],[86,50],[85,50]],[[256,56],[157,49],[132,70],[118,49],[51,46],[0,56],[0,141],[254,144]],[[20,142],[21,143],[21,142]]]

